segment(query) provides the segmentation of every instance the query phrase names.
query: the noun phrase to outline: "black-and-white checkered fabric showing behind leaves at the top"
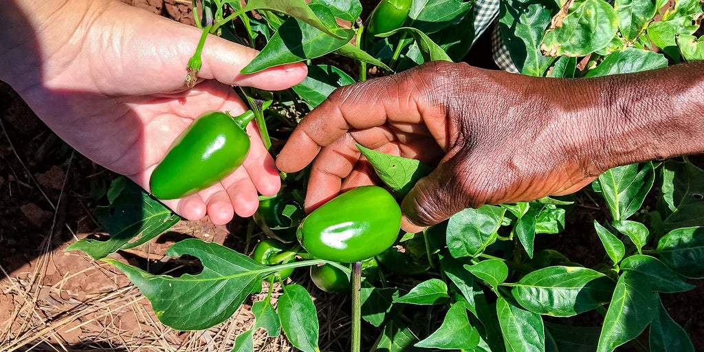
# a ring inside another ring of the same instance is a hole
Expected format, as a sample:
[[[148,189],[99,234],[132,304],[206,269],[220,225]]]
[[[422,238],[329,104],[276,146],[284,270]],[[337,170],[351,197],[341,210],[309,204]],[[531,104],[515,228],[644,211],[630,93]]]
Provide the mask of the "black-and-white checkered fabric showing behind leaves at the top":
[[[482,33],[498,16],[498,6],[501,0],[475,0],[474,1],[474,41],[477,41]],[[501,39],[501,31],[498,30],[498,21],[494,26],[494,32],[491,33],[491,51],[494,57],[494,62],[501,70],[511,73],[518,73],[517,68],[511,61],[511,56],[508,54],[508,49],[503,44]]]

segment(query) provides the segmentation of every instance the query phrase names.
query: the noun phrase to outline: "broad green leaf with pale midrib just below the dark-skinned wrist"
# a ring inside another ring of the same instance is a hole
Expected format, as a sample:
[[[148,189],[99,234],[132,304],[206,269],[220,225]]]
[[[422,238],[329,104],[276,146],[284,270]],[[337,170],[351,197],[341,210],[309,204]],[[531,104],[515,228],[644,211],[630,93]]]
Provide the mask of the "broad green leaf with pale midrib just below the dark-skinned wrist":
[[[618,166],[598,177],[601,194],[614,221],[626,220],[643,205],[655,181],[653,163]]]

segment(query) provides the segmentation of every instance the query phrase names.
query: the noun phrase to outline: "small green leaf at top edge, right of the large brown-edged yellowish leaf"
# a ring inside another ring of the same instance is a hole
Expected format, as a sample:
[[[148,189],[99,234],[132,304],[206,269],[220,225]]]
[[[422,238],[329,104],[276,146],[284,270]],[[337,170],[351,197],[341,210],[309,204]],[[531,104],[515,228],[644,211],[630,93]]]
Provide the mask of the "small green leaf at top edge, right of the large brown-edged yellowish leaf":
[[[658,10],[655,0],[616,0],[614,8],[618,14],[621,35],[633,42],[655,17]]]

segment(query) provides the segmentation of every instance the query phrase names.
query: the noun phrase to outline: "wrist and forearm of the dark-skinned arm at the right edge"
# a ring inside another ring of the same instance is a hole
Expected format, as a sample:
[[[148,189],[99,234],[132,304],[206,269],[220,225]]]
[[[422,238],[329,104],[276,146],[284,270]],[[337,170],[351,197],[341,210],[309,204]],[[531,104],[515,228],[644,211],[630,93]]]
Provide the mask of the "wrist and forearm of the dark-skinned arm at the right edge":
[[[704,151],[704,63],[601,77],[608,167]]]

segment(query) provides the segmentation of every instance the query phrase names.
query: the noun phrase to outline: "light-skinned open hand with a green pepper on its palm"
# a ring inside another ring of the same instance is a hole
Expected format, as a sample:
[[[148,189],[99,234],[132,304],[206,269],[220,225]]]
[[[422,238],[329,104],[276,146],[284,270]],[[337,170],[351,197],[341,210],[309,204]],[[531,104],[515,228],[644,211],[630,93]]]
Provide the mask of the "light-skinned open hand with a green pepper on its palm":
[[[256,51],[208,37],[199,74],[205,80],[186,89],[185,68],[200,34],[151,13],[110,5],[81,45],[57,48],[44,60],[39,84],[20,94],[77,151],[149,189],[153,168],[194,118],[205,111],[246,110],[230,84],[284,89],[306,74],[304,66],[289,65],[239,75]],[[251,149],[243,167],[198,194],[164,203],[184,218],[207,213],[215,224],[230,221],[233,211],[254,213],[258,192],[275,194],[280,181],[256,125],[247,132]]]

